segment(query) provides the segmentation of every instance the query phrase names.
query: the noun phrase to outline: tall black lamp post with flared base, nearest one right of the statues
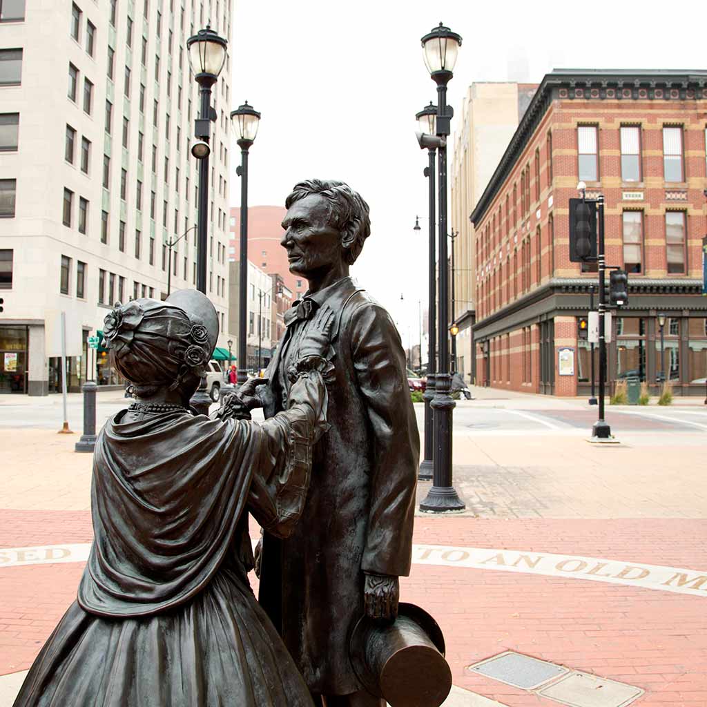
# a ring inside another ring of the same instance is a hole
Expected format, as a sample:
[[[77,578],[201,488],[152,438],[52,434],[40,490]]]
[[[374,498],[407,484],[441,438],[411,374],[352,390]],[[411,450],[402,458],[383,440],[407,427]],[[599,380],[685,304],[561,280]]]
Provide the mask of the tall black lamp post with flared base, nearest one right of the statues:
[[[447,84],[451,80],[452,70],[457,60],[457,52],[462,44],[462,37],[452,32],[442,23],[422,37],[423,58],[430,76],[437,84],[436,136],[438,162],[438,259],[439,297],[438,316],[438,371],[435,377],[435,396],[431,402],[435,423],[433,453],[433,481],[426,498],[420,504],[420,510],[443,512],[463,510],[461,501],[452,486],[452,411],[455,402],[450,395],[451,378],[449,373],[448,346],[448,271],[447,271],[447,136],[450,135],[450,122],[454,111],[447,105]],[[423,146],[421,141],[421,146]],[[424,145],[428,146],[428,145]]]

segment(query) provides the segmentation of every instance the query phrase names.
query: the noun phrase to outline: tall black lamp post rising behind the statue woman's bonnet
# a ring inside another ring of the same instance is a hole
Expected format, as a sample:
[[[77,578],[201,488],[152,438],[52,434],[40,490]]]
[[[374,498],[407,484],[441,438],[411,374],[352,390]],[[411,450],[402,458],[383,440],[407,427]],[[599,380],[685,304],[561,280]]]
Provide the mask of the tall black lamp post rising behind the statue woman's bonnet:
[[[197,221],[197,290],[206,294],[206,252],[209,240],[209,154],[211,146],[211,120],[216,119],[211,107],[211,87],[218,81],[223,64],[226,63],[228,40],[206,25],[196,35],[187,40],[189,64],[194,72],[194,79],[199,84],[201,105],[199,117],[194,122],[194,136],[197,141],[192,145],[192,155],[199,160],[199,203]],[[170,258],[171,259],[171,258]],[[171,268],[170,268],[171,272]],[[211,398],[206,392],[206,376],[201,378],[197,392],[192,397],[192,407],[199,414],[209,414]]]

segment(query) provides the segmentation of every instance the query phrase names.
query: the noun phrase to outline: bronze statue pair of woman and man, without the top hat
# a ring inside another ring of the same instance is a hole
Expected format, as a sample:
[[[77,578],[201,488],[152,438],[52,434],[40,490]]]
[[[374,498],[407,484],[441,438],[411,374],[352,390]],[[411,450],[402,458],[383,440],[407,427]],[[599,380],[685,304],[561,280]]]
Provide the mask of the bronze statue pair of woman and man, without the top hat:
[[[309,290],[267,378],[214,417],[189,409],[218,337],[204,295],[105,318],[135,402],[98,437],[78,597],[16,707],[385,704],[349,642],[361,617],[395,619],[410,568],[419,440],[405,358],[390,316],[349,277],[366,202],[311,180],[286,207],[282,245]],[[249,513],[263,529],[259,601]]]

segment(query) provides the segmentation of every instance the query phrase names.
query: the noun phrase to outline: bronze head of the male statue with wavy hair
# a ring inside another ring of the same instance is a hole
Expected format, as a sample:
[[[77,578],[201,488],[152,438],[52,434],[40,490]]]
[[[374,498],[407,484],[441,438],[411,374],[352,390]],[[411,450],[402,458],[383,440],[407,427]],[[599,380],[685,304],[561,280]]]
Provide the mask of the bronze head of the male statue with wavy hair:
[[[349,185],[336,180],[307,180],[295,185],[285,201],[282,221],[290,270],[307,278],[361,254],[370,235],[368,204]]]

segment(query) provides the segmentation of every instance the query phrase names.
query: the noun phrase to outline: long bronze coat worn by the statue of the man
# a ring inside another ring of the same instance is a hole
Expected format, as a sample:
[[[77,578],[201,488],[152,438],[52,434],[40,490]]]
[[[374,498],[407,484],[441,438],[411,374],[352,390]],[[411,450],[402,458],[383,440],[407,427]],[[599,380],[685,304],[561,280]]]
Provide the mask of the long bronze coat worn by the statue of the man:
[[[390,315],[348,277],[307,299],[337,315],[331,427],[312,452],[312,482],[293,534],[264,537],[259,600],[310,690],[349,694],[361,689],[349,638],[364,613],[363,571],[410,571],[419,435]],[[310,322],[289,325],[278,347],[266,416],[284,407],[286,368]]]

